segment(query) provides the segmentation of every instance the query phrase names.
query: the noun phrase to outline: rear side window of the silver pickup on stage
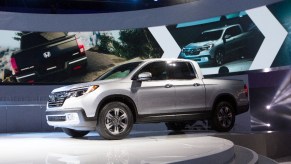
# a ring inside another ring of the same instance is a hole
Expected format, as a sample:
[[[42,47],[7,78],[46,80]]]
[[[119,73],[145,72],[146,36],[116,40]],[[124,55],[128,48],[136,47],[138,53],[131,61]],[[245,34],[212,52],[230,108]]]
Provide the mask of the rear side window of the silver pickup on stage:
[[[189,62],[172,62],[168,64],[169,79],[190,80],[196,78]]]

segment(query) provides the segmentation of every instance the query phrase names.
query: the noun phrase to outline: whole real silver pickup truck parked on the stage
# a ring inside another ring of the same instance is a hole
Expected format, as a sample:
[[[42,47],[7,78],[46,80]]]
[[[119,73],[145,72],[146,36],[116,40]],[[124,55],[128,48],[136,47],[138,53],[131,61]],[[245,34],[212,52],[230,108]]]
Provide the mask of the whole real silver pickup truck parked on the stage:
[[[213,129],[227,132],[248,108],[243,81],[206,79],[191,60],[148,59],[116,66],[93,82],[54,89],[46,118],[72,137],[97,130],[105,139],[122,139],[137,123],[165,122],[179,131],[185,121],[209,120]]]

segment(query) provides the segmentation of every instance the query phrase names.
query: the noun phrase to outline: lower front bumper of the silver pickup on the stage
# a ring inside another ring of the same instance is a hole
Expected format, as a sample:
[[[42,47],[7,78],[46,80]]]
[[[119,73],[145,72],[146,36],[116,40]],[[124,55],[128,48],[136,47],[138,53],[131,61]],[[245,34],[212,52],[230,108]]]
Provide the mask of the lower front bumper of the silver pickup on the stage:
[[[96,118],[88,118],[83,109],[46,111],[46,120],[50,126],[75,130],[95,130]]]

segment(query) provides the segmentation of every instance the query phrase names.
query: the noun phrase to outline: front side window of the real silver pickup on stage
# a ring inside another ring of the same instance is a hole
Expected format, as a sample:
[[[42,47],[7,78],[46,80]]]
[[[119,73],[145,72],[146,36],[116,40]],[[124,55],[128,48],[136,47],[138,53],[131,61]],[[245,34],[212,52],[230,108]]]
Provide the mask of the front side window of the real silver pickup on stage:
[[[153,62],[143,67],[138,74],[142,72],[150,72],[152,74],[152,80],[166,80],[167,69],[165,62]],[[138,74],[136,76],[138,76]]]

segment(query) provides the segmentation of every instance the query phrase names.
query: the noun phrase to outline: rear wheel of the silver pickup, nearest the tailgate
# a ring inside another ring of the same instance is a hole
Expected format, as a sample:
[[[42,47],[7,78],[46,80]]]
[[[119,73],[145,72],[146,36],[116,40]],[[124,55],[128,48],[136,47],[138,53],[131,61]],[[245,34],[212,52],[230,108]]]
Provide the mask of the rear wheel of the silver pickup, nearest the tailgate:
[[[235,111],[231,103],[221,101],[217,103],[212,115],[212,127],[218,132],[228,132],[233,128]]]

